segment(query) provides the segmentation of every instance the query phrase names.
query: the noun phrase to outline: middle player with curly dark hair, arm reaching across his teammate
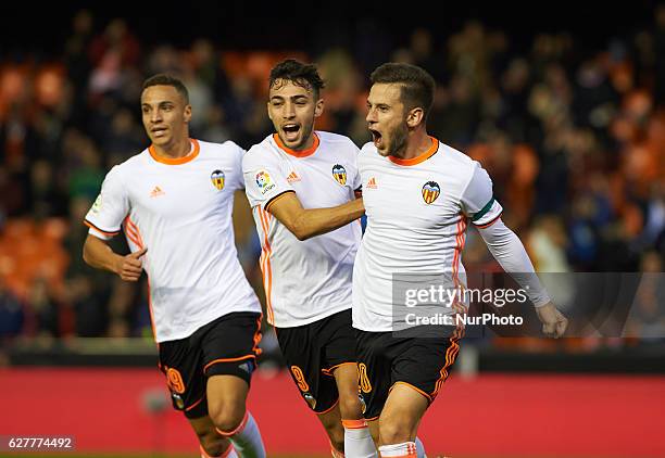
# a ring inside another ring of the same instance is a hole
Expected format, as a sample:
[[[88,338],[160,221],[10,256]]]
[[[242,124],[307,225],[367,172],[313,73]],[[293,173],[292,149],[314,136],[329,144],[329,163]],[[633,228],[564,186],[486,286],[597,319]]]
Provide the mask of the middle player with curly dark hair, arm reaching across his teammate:
[[[263,244],[267,319],[293,381],[332,455],[364,457],[376,448],[362,419],[351,326],[354,219],[364,212],[354,199],[359,150],[314,130],[323,87],[313,65],[286,60],[272,69],[267,112],[276,133],[248,151],[242,169]]]

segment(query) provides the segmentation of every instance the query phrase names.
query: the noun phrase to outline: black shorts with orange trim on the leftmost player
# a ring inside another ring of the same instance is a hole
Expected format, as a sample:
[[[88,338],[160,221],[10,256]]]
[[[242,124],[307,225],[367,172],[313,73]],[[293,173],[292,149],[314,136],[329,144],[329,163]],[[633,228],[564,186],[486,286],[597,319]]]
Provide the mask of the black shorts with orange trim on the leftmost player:
[[[173,407],[187,418],[208,415],[205,387],[212,376],[236,376],[248,385],[261,353],[261,314],[224,315],[177,341],[159,344]]]

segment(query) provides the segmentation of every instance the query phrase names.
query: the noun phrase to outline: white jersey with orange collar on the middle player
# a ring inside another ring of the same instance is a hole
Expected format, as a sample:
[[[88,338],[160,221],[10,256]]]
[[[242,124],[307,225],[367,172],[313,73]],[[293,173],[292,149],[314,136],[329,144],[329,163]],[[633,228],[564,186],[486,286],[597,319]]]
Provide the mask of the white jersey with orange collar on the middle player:
[[[314,144],[305,151],[289,150],[277,135],[268,136],[242,160],[263,249],[267,320],[278,328],[308,325],[351,308],[360,222],[299,241],[269,213],[271,204],[286,192],[296,192],[303,208],[331,207],[354,199],[361,185],[357,147],[340,135],[315,131],[314,136]]]

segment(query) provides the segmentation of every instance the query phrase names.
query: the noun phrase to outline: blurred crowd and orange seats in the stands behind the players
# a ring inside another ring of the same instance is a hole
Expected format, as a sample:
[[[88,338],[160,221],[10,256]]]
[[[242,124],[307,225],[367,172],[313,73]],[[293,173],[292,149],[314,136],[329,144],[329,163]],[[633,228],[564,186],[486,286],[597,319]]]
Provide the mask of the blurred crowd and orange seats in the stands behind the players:
[[[105,173],[148,145],[142,80],[180,77],[192,137],[248,149],[272,131],[267,74],[287,56],[315,62],[326,80],[317,128],[359,145],[369,139],[374,67],[390,60],[426,68],[438,85],[430,133],[488,169],[504,220],[537,270],[663,271],[665,7],[597,49],[564,31],[518,42],[478,21],[446,36],[414,28],[394,49],[377,33],[315,52],[223,51],[208,39],[146,46],[122,18],[98,24],[87,11],[71,28],[57,55],[0,61],[2,341],[149,336],[146,288],[92,270],[80,255],[81,220]],[[261,249],[241,204],[239,254],[261,292]],[[117,239],[115,247],[127,250]],[[478,239],[469,230],[467,270],[494,269]],[[665,336],[663,296],[643,296],[647,318],[631,326],[637,333],[656,326],[654,335]]]

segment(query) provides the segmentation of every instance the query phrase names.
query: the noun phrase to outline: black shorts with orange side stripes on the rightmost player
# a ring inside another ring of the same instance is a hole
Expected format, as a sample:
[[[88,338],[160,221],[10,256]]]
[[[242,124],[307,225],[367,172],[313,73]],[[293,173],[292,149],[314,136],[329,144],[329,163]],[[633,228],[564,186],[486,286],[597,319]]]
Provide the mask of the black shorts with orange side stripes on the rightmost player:
[[[357,371],[364,417],[381,414],[396,383],[404,383],[431,404],[448,379],[457,353],[459,338],[396,338],[392,332],[355,330]]]

